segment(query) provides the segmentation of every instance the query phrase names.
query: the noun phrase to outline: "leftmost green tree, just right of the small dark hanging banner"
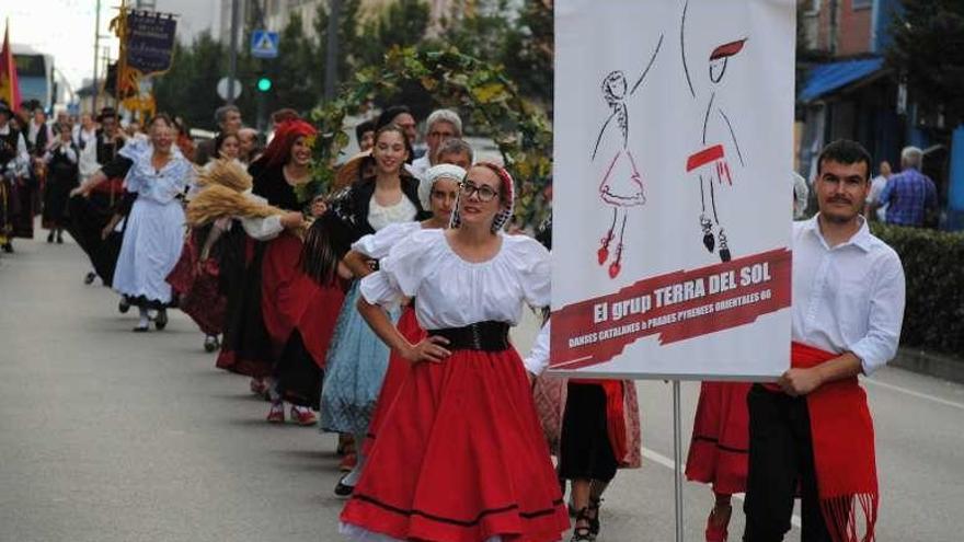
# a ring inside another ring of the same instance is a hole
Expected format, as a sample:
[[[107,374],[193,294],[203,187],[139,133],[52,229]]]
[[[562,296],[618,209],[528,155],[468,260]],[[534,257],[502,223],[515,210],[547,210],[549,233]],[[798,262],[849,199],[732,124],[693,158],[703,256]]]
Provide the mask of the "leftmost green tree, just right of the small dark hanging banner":
[[[174,48],[171,70],[154,79],[158,111],[183,117],[190,126],[214,129],[218,79],[225,70],[225,48],[209,33],[197,36],[191,47]]]

